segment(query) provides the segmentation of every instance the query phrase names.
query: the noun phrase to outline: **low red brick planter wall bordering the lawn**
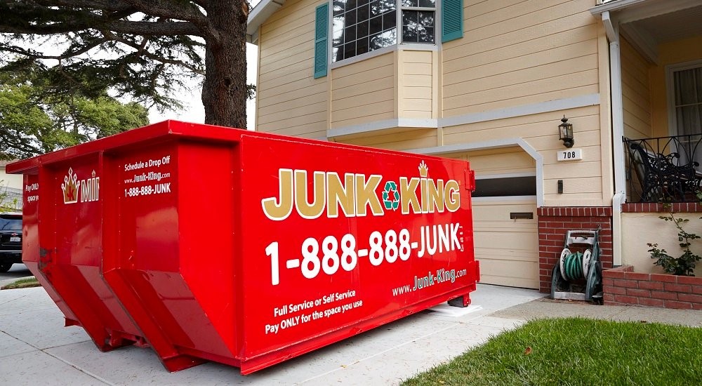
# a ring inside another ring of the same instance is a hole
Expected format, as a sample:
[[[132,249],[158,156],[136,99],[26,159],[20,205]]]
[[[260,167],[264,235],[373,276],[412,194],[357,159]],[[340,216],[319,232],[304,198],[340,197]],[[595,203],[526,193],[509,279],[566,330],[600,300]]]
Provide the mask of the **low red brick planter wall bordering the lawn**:
[[[631,265],[602,271],[605,305],[702,310],[702,277],[633,271]]]

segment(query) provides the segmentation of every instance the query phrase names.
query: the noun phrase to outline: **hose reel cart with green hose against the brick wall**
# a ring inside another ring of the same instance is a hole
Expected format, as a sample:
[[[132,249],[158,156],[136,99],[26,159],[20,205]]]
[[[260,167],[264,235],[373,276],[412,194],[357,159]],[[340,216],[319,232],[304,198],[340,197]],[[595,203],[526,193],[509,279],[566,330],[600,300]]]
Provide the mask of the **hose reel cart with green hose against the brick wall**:
[[[560,258],[551,274],[551,298],[602,300],[600,227],[569,230]]]

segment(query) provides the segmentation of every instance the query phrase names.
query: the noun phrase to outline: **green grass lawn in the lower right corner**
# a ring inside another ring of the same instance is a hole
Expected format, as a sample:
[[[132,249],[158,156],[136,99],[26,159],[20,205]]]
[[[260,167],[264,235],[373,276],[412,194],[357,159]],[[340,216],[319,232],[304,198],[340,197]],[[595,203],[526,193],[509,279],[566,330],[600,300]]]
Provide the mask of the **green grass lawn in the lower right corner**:
[[[540,319],[403,385],[699,385],[701,342],[702,328]]]

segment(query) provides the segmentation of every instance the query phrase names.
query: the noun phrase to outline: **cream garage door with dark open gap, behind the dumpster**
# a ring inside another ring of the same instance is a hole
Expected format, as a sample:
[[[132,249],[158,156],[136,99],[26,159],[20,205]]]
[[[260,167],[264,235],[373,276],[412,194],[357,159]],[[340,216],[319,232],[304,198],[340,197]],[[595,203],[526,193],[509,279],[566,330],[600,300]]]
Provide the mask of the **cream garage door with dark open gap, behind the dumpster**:
[[[538,288],[536,167],[520,148],[468,154],[480,282]]]

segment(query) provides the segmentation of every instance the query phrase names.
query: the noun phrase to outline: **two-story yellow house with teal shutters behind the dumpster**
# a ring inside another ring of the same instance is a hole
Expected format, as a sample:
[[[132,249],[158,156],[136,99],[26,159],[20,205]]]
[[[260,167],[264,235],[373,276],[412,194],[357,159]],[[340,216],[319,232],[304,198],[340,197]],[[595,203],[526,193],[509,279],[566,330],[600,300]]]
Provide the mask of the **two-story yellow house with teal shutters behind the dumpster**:
[[[642,197],[629,154],[702,133],[700,20],[699,0],[262,0],[256,130],[468,159],[484,283],[548,291],[565,232],[598,226],[605,268],[651,272],[664,225],[634,203],[678,185]]]

